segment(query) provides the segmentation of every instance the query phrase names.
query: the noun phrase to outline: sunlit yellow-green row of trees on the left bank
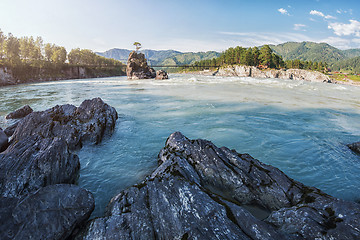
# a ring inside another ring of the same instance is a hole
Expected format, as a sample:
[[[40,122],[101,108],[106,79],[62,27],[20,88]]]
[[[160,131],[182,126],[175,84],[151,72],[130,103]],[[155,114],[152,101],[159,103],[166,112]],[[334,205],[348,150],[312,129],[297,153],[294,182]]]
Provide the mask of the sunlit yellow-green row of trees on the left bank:
[[[83,66],[98,69],[117,68],[125,65],[118,60],[99,56],[88,49],[72,49],[69,53],[62,46],[44,43],[41,37],[17,38],[5,35],[0,29],[0,66],[11,69],[14,75],[55,74],[64,67]]]

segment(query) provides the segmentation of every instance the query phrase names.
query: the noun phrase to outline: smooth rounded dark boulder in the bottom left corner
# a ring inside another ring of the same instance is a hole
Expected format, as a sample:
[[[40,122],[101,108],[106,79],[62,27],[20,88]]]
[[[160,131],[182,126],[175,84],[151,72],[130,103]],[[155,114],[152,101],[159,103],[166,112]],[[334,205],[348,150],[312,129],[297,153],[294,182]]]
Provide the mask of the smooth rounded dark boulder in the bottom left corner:
[[[25,198],[0,198],[0,239],[66,239],[94,210],[92,194],[75,185],[51,185]]]

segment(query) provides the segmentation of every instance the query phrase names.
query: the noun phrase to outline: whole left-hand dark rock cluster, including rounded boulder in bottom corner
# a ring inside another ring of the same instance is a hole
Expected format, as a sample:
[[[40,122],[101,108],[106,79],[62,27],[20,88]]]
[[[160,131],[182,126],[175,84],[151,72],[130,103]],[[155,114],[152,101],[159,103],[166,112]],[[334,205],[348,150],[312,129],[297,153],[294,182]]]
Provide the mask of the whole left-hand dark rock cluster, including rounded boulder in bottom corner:
[[[114,129],[117,112],[100,98],[79,107],[32,112],[15,126],[0,154],[0,239],[65,239],[90,216],[92,195],[76,186],[73,150],[99,143]]]

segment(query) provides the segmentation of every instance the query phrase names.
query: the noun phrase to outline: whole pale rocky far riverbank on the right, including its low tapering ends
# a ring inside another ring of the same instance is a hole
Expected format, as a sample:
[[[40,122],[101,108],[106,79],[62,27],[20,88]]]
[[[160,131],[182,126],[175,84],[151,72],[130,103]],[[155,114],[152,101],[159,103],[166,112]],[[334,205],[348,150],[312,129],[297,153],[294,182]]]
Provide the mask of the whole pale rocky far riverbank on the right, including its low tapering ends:
[[[197,72],[184,72],[190,74],[207,75],[207,76],[224,76],[224,77],[253,77],[253,78],[277,78],[290,80],[304,80],[310,82],[325,82],[334,84],[345,84],[360,86],[357,81],[341,81],[317,71],[303,69],[265,69],[260,70],[254,66],[232,65],[221,67],[217,70],[203,70]]]

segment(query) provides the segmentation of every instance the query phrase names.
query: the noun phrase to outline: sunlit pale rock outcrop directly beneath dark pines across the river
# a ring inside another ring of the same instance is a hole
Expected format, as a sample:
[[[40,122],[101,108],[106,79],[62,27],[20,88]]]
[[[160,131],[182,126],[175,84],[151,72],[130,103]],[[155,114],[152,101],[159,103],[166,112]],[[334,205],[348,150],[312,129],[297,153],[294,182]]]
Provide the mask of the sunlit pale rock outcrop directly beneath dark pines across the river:
[[[279,78],[279,79],[293,79],[293,80],[305,80],[311,82],[327,82],[327,83],[334,82],[327,75],[317,71],[309,71],[303,69],[260,70],[257,67],[245,66],[245,65],[221,67],[218,71],[212,74],[216,76]]]

